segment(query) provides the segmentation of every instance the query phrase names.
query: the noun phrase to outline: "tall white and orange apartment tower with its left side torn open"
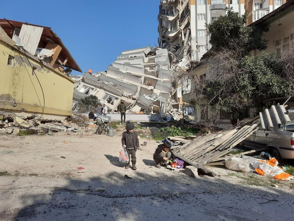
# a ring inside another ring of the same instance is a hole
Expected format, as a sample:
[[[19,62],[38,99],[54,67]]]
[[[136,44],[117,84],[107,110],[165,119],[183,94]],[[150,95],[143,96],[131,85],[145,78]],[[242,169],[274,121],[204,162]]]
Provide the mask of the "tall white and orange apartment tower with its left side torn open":
[[[226,7],[245,13],[244,0],[161,0],[159,47],[171,51],[180,66],[199,61],[210,49],[206,24],[224,15]]]

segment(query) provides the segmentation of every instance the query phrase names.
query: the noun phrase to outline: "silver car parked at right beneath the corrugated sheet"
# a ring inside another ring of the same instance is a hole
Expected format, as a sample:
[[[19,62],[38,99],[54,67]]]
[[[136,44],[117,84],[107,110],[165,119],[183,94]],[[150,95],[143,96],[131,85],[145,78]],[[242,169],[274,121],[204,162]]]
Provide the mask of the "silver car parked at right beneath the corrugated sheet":
[[[268,147],[270,154],[278,161],[294,159],[294,123],[268,130],[259,128],[243,144],[249,149]]]

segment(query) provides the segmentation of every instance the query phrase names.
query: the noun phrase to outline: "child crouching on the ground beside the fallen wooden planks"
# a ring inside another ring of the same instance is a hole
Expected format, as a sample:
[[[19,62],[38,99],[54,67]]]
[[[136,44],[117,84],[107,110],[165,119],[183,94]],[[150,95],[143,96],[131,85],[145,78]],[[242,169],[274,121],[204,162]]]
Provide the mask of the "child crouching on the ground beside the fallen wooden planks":
[[[172,157],[175,158],[173,152],[171,152],[171,143],[165,142],[163,144],[159,144],[153,154],[153,160],[156,163],[157,168],[161,168],[161,165],[165,166],[166,162]],[[161,164],[161,165],[160,165]]]

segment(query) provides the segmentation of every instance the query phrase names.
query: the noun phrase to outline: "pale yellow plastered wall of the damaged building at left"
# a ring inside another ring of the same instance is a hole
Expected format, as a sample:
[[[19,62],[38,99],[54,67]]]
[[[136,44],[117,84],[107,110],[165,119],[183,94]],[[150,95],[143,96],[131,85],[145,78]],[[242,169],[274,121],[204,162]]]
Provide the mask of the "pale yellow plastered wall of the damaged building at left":
[[[14,57],[13,67],[7,65],[9,55]],[[29,61],[37,68],[44,91],[44,115],[71,116],[74,82],[33,58]],[[0,41],[0,111],[42,113],[43,94],[29,61],[22,52]]]

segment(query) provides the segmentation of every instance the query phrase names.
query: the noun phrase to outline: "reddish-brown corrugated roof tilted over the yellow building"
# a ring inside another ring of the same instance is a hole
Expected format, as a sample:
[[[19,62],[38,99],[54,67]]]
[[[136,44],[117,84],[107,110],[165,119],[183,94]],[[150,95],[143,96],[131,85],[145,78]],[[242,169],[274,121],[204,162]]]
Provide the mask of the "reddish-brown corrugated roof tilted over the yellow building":
[[[36,25],[36,24],[29,24],[26,22],[17,22],[13,20],[7,20],[7,19],[0,19],[0,26],[4,29],[6,34],[12,38],[12,35],[14,33],[14,28],[21,29],[22,24],[28,24],[28,25],[34,25],[38,27],[43,27],[43,33],[39,42],[40,48],[45,48],[46,44],[48,42],[54,42],[62,47],[61,52],[58,55],[58,58],[61,60],[61,62],[64,62],[66,57],[68,57],[68,61],[64,65],[64,67],[69,67],[73,70],[82,72],[81,68],[78,66],[72,55],[69,53],[69,50],[65,47],[64,43],[61,41],[61,39],[58,37],[56,33],[52,31],[50,27],[45,27],[41,25]]]

